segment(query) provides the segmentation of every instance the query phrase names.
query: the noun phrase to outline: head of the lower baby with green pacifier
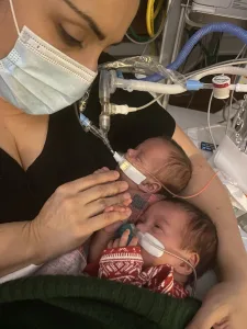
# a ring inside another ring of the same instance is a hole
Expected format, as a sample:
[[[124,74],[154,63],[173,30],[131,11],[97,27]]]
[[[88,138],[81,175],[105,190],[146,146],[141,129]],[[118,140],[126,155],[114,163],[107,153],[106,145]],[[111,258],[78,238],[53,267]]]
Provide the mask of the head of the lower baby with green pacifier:
[[[189,261],[201,276],[214,266],[217,251],[217,234],[212,220],[192,204],[171,198],[151,205],[136,223],[142,232],[149,232],[166,248]],[[182,279],[192,273],[191,266],[164,253],[155,258],[142,250],[146,266],[170,264]]]

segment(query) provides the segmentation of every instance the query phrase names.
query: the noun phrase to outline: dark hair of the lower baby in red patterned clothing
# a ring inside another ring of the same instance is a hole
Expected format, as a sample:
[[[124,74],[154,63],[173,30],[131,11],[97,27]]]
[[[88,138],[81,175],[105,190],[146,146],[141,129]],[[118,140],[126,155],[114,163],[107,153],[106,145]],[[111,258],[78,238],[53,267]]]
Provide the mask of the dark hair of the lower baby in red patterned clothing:
[[[181,248],[197,252],[200,262],[197,265],[197,273],[200,277],[210,269],[213,269],[217,256],[217,231],[211,218],[197,206],[180,198],[169,198],[166,202],[177,205],[188,214],[189,223],[183,232]]]

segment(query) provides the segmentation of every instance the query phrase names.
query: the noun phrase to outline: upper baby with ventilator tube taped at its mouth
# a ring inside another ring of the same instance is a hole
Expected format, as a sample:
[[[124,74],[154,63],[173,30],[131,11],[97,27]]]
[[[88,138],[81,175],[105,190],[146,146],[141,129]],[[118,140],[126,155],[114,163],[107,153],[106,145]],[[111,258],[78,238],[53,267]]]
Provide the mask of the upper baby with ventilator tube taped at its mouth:
[[[164,194],[167,195],[162,186],[177,194],[188,185],[192,174],[191,162],[186,152],[176,141],[167,137],[147,139],[136,149],[127,150],[125,158],[146,175],[146,180],[137,185],[119,167],[116,168],[120,172],[120,180],[126,181],[130,185],[131,222],[137,220],[150,204],[164,198]],[[115,224],[105,230],[112,232],[119,226],[120,224]],[[99,249],[101,247],[99,246]],[[83,250],[85,248],[80,248],[76,252],[70,252],[44,264],[37,274],[79,274],[78,270],[81,269],[79,263],[81,263]]]

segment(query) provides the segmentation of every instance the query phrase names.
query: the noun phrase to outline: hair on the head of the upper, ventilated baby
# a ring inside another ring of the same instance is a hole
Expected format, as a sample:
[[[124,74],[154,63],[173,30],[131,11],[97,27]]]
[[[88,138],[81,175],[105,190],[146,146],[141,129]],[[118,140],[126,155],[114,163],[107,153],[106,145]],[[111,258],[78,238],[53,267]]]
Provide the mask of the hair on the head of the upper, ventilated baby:
[[[186,189],[191,179],[191,161],[181,146],[173,139],[166,136],[157,138],[160,138],[167,146],[170,146],[171,149],[165,166],[156,177],[172,193],[180,193]],[[165,189],[162,189],[161,193],[169,195]]]

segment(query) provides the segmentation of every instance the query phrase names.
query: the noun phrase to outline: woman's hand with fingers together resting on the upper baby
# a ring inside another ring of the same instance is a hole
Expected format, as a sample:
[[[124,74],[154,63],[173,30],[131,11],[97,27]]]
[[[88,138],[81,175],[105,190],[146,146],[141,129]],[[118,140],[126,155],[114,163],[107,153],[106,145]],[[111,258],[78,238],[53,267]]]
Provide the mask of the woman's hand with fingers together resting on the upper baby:
[[[131,195],[126,182],[115,182],[119,173],[94,173],[61,185],[30,224],[30,239],[38,263],[58,257],[83,243],[94,231],[126,219]],[[112,205],[122,205],[104,212]]]

